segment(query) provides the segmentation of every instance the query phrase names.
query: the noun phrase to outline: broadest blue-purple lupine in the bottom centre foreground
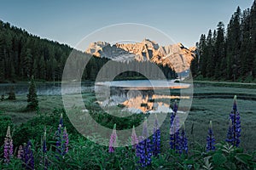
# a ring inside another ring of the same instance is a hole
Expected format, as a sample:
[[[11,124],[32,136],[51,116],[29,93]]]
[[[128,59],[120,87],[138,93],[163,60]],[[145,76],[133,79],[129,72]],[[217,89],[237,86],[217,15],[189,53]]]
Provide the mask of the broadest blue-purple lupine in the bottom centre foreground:
[[[148,138],[148,125],[147,118],[143,122],[143,136],[139,137],[139,143],[136,147],[136,155],[139,157],[139,163],[142,167],[147,167],[151,164],[151,156],[152,156],[152,145],[150,139]]]

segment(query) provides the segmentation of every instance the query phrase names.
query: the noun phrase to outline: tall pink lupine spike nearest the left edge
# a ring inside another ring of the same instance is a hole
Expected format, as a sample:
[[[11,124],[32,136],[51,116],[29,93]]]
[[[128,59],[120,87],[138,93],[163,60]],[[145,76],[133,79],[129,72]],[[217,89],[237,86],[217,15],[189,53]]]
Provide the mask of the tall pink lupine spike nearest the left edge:
[[[10,127],[7,128],[6,138],[4,139],[4,150],[3,150],[3,157],[4,162],[9,163],[10,158],[13,156],[14,153],[14,145],[13,139],[10,135]]]

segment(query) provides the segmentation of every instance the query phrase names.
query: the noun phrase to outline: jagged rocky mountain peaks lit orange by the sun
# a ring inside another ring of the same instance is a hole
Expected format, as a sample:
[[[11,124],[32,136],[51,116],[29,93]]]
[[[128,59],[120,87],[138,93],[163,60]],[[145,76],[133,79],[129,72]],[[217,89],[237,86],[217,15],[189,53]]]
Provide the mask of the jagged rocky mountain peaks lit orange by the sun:
[[[143,42],[113,45],[108,42],[92,42],[85,53],[119,61],[150,60],[182,72],[189,70],[191,60],[195,58],[195,47],[185,48],[182,43],[160,46],[157,42],[144,39]]]

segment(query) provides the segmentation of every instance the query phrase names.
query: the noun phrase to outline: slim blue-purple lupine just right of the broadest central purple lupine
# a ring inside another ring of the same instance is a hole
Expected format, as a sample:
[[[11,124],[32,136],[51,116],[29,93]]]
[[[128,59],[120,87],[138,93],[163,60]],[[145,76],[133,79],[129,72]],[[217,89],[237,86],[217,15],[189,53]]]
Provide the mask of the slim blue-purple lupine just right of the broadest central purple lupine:
[[[160,128],[156,114],[154,117],[154,132],[152,135],[152,152],[154,156],[160,154]]]

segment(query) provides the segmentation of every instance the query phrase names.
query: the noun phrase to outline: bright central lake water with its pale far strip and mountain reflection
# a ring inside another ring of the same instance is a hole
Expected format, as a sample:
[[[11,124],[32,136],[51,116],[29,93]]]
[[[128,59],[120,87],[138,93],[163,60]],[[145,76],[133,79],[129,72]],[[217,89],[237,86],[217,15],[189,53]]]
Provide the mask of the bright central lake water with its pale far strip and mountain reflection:
[[[119,106],[123,108],[122,111],[134,113],[171,112],[173,100],[189,99],[189,96],[179,95],[181,88],[189,88],[189,84],[174,81],[113,81],[96,83],[95,93],[97,102],[106,110]]]

